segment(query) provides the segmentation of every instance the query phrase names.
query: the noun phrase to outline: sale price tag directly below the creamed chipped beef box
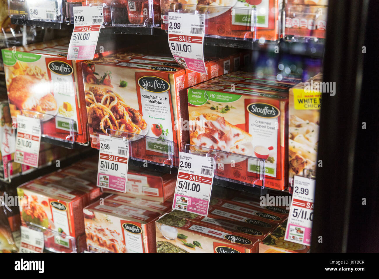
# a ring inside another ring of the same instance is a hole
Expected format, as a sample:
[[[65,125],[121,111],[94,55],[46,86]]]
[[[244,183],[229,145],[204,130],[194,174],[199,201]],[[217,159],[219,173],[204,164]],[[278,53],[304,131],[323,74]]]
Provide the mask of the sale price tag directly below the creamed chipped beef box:
[[[207,216],[214,160],[185,152],[180,152],[179,156],[179,172],[172,208]]]

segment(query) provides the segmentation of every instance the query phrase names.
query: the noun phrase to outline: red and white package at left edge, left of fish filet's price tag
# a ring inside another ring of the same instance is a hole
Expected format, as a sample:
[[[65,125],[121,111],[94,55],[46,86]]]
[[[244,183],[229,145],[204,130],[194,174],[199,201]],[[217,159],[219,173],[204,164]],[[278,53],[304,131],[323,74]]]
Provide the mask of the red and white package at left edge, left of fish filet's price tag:
[[[0,99],[0,178],[8,179],[8,162],[14,159],[16,148],[16,130],[12,129],[12,118],[9,111],[8,99]],[[12,162],[9,173],[21,172],[21,164]]]

